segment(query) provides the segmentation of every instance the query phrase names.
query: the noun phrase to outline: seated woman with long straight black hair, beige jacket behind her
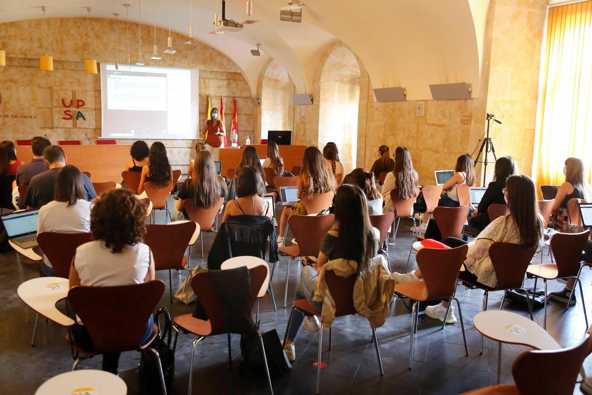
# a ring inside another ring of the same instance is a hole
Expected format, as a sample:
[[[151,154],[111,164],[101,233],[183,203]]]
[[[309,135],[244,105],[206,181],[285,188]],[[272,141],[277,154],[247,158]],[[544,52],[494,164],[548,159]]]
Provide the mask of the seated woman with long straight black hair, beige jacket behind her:
[[[323,303],[313,300],[314,288],[318,272],[324,264],[334,259],[353,259],[358,262],[359,274],[366,271],[371,259],[378,253],[380,232],[370,224],[368,204],[363,191],[355,185],[341,185],[335,194],[334,208],[335,222],[323,238],[317,264],[304,266],[294,297],[294,300],[306,298],[318,311],[323,308]],[[316,316],[305,317],[300,311],[294,310],[284,345],[284,352],[290,361],[294,361],[296,357],[294,341],[300,327],[308,332],[318,332],[320,323]]]

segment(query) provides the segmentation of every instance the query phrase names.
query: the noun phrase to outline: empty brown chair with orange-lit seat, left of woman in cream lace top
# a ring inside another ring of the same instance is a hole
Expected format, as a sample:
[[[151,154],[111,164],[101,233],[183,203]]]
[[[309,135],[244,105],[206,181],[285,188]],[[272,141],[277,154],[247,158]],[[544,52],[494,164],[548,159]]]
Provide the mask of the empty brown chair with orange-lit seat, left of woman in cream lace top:
[[[456,291],[456,280],[458,272],[466,258],[468,246],[463,245],[451,249],[432,249],[424,248],[417,252],[417,266],[422,271],[423,281],[403,282],[395,285],[395,295],[407,297],[414,301],[411,310],[411,345],[409,348],[409,368],[411,369],[411,360],[413,359],[413,338],[417,332],[417,319],[419,302],[439,299],[452,299],[458,306],[458,315],[461,320],[462,340],[465,343],[466,356],[469,355],[469,349],[466,346],[465,325],[462,322],[461,303],[454,296]],[[446,325],[450,306],[446,310],[442,329]]]

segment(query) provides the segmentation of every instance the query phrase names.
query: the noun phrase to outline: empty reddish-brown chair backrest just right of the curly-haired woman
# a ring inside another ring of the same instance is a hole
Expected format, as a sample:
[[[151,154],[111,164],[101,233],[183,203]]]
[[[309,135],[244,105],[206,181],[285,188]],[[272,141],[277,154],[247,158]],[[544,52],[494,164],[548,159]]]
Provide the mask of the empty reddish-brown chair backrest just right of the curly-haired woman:
[[[182,268],[185,250],[196,227],[193,221],[147,226],[144,243],[152,250],[156,270]]]

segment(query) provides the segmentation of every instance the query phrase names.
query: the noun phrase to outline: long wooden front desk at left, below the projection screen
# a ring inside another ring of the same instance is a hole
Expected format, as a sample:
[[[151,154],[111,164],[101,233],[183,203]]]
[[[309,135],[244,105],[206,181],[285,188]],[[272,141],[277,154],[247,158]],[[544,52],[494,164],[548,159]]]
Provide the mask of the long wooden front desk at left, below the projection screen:
[[[120,182],[121,172],[131,158],[128,145],[62,146],[62,149],[67,163],[75,165],[81,172],[90,172],[92,182]],[[33,158],[31,146],[17,146],[17,158],[30,162]]]

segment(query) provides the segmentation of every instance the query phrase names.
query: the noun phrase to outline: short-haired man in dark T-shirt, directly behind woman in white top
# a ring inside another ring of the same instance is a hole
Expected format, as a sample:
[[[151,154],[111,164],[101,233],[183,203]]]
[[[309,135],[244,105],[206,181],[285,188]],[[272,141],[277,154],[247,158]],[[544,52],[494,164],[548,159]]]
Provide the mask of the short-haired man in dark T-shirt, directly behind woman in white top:
[[[66,166],[67,158],[62,147],[52,145],[43,150],[43,160],[47,170],[31,178],[25,205],[31,208],[39,208],[53,200],[57,173]],[[91,179],[82,174],[84,184],[84,199],[91,201],[96,198],[95,188]]]

